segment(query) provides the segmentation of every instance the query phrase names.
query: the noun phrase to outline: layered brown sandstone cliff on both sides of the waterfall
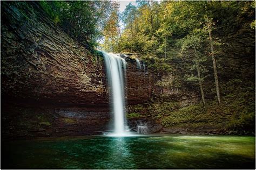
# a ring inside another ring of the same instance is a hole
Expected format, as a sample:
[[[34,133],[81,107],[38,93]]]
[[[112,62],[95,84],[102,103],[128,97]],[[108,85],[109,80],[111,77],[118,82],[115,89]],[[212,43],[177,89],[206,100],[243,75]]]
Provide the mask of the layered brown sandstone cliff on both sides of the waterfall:
[[[2,9],[3,135],[106,130],[111,113],[103,57],[60,30],[36,2],[5,2]],[[129,57],[126,61],[127,103],[145,103],[156,76]]]

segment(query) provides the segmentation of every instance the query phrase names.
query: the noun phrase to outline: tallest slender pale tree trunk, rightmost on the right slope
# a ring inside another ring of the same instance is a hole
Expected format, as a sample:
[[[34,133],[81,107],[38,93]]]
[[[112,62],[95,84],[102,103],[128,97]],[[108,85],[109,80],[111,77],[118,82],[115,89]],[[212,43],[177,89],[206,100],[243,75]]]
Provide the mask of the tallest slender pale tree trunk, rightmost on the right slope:
[[[218,104],[220,104],[220,92],[219,92],[219,82],[218,82],[218,75],[217,75],[217,67],[216,67],[216,61],[215,61],[215,56],[214,56],[211,25],[210,25],[208,17],[207,17],[207,27],[208,27],[208,33],[209,33],[209,38],[210,38],[210,45],[211,45],[211,52],[212,52],[211,55],[212,55],[212,62],[213,62],[213,72],[214,72],[214,79],[215,79],[215,86],[216,86]]]

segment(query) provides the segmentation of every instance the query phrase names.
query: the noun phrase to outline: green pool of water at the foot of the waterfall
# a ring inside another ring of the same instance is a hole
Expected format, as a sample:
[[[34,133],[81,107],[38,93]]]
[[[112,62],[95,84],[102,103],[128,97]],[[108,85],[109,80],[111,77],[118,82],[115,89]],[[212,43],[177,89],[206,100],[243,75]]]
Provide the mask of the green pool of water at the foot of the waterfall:
[[[254,137],[68,137],[2,143],[2,168],[254,168]]]

